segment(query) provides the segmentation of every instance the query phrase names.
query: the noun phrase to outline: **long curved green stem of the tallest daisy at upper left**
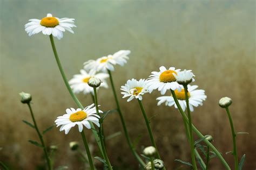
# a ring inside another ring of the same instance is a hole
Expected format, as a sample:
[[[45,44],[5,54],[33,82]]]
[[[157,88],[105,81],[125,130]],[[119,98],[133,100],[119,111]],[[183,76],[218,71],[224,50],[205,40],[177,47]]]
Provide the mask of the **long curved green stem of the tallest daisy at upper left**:
[[[66,75],[64,73],[64,70],[63,70],[63,67],[62,67],[62,64],[60,63],[60,60],[59,60],[59,56],[58,56],[58,53],[56,51],[56,47],[55,47],[55,44],[54,44],[54,40],[53,40],[53,37],[52,37],[52,34],[50,35],[50,41],[51,41],[51,46],[52,46],[52,50],[53,50],[53,54],[55,56],[55,59],[56,59],[56,62],[57,62],[57,65],[59,67],[59,71],[60,71],[60,74],[62,75],[62,78],[64,80],[64,83],[66,85],[66,88],[69,90],[69,93],[71,95],[71,97],[73,98],[73,101],[75,101],[75,103],[77,104],[78,108],[80,109],[84,109],[83,105],[79,102],[78,98],[76,97],[76,95],[73,93],[72,89],[70,88],[69,86],[69,82],[68,80],[66,79]],[[89,121],[91,127],[93,129],[95,129],[95,126]],[[102,146],[100,146],[100,141],[99,141],[99,137],[98,137],[98,134],[96,131],[92,131],[92,133],[94,134],[95,136],[95,139],[96,139],[96,142],[99,146],[99,150],[100,150],[100,153],[103,155],[103,151],[102,151]]]

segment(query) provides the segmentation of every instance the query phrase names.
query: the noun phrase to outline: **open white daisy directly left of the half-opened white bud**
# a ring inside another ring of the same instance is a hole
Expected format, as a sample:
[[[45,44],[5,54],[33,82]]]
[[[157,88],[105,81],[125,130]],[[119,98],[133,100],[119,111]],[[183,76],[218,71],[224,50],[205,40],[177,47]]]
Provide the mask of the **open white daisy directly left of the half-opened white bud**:
[[[176,82],[176,77],[174,74],[177,74],[180,69],[175,69],[175,67],[170,67],[166,69],[164,66],[161,66],[160,72],[151,72],[151,75],[147,81],[149,82],[149,91],[155,90],[158,88],[158,91],[161,92],[161,95],[166,93],[166,90],[181,90],[181,86]]]

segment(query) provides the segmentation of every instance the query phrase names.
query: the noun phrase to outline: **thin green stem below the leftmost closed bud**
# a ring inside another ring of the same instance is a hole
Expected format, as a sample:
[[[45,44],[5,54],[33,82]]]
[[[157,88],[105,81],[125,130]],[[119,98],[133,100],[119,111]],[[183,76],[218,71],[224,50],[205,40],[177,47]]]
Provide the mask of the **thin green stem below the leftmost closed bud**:
[[[51,170],[51,169],[52,169],[51,159],[49,158],[49,154],[48,154],[48,152],[47,152],[47,150],[46,150],[46,147],[45,147],[45,144],[44,144],[43,136],[42,136],[42,134],[40,133],[38,127],[37,127],[36,119],[35,119],[35,117],[34,117],[34,114],[33,114],[33,111],[32,111],[32,108],[31,108],[30,103],[28,103],[28,106],[29,106],[29,110],[30,110],[31,117],[32,117],[32,119],[33,119],[33,123],[34,123],[35,129],[36,129],[36,131],[37,131],[37,134],[38,134],[39,139],[40,139],[40,141],[41,141],[41,144],[42,144],[42,146],[43,146],[44,155],[45,155],[45,158],[46,158],[46,161],[47,161],[48,169]]]

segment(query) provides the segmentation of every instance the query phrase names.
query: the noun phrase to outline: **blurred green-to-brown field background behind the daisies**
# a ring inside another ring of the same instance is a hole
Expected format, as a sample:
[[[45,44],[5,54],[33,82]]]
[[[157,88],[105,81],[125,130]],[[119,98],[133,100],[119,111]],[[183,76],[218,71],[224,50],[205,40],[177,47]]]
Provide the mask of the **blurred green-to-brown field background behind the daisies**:
[[[60,76],[50,40],[42,33],[28,37],[24,24],[41,19],[46,13],[75,18],[75,34],[64,33],[55,39],[60,60],[68,79],[77,74],[83,62],[130,49],[129,62],[115,67],[114,83],[130,136],[142,136],[140,146],[149,146],[146,125],[138,103],[122,99],[120,86],[128,79],[147,78],[160,66],[192,69],[207,100],[192,113],[193,123],[203,134],[211,134],[214,145],[233,169],[231,129],[221,97],[233,100],[231,113],[235,131],[248,132],[237,137],[239,159],[246,154],[244,169],[256,168],[255,118],[255,1],[12,1],[0,0],[0,161],[10,169],[39,169],[43,164],[41,148],[28,143],[38,140],[36,132],[22,120],[32,122],[28,107],[19,92],[32,94],[33,110],[41,130],[52,125],[66,108],[74,107]],[[187,169],[174,159],[190,161],[189,145],[178,110],[157,107],[158,91],[144,96],[143,103],[151,121],[160,154],[167,169]],[[78,95],[84,105],[91,96]],[[102,110],[115,108],[111,88],[99,90]],[[118,114],[105,119],[106,136],[122,132],[107,141],[107,151],[114,169],[137,169],[124,138]],[[92,146],[92,132],[86,130]],[[53,128],[45,136],[48,146],[57,145],[55,167],[83,169],[78,154],[69,142],[82,140],[77,129],[68,135]],[[198,137],[196,137],[198,139]],[[81,146],[84,148],[83,145]],[[93,150],[96,156],[96,149]],[[98,162],[96,160],[96,162]],[[100,162],[98,162],[100,167]],[[100,168],[99,168],[100,169]],[[224,169],[214,158],[210,169]]]

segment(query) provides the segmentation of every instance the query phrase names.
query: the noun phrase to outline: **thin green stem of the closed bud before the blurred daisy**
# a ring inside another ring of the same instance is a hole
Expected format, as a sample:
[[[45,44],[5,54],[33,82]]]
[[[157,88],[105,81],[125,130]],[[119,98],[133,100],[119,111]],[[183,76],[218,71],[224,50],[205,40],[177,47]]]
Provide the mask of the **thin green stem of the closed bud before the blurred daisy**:
[[[98,99],[97,99],[97,89],[96,89],[96,87],[93,87],[93,91],[94,91],[94,101],[95,101],[96,112],[97,112],[97,115],[99,115],[99,107],[98,107]],[[100,139],[100,143],[102,144],[102,151],[103,151],[104,159],[106,161],[107,167],[109,167],[109,169],[112,170],[112,166],[110,164],[109,157],[107,157],[106,147],[104,145],[102,122],[99,121],[99,123],[100,123],[100,126],[99,126],[99,139]]]

